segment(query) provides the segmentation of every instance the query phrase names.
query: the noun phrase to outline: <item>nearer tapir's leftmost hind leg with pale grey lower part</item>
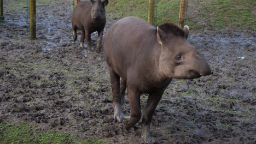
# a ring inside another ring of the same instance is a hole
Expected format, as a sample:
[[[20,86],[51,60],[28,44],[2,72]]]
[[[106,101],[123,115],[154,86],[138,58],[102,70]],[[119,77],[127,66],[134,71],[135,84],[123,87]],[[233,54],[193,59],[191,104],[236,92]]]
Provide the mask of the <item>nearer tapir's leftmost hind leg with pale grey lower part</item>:
[[[114,103],[114,121],[121,123],[123,121],[123,109],[120,97],[120,76],[111,68],[109,68],[109,73]]]

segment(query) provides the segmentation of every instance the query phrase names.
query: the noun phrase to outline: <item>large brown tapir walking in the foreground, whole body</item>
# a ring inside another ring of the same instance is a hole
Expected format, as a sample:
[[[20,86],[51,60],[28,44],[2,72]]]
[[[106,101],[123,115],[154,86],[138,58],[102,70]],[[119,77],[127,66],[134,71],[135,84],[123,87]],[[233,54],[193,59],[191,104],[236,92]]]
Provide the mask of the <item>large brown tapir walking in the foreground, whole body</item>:
[[[103,51],[110,73],[114,121],[123,121],[126,86],[131,106],[131,117],[124,121],[127,129],[141,118],[140,95],[149,94],[142,118],[142,142],[150,142],[153,112],[172,79],[194,79],[211,74],[206,59],[186,40],[188,32],[187,26],[184,30],[173,23],[154,27],[131,16],[115,22],[104,37]]]

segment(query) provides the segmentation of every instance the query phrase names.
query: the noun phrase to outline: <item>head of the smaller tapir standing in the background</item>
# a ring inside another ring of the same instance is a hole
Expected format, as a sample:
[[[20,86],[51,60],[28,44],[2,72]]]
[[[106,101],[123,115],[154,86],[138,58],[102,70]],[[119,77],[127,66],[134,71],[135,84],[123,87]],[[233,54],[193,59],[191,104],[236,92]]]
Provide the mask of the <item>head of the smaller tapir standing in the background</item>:
[[[104,21],[106,20],[105,16],[105,7],[108,5],[108,0],[101,2],[101,0],[90,0],[92,4],[91,8],[91,18],[94,21]]]

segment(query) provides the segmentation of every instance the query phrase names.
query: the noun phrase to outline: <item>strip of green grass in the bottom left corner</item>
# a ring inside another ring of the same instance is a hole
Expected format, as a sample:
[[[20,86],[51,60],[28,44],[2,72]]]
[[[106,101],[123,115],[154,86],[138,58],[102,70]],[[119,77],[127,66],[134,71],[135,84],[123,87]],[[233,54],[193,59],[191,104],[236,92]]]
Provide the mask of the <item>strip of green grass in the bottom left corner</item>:
[[[0,123],[1,143],[88,143],[102,144],[104,140],[83,140],[68,133],[44,133],[34,131],[35,126],[28,123]]]

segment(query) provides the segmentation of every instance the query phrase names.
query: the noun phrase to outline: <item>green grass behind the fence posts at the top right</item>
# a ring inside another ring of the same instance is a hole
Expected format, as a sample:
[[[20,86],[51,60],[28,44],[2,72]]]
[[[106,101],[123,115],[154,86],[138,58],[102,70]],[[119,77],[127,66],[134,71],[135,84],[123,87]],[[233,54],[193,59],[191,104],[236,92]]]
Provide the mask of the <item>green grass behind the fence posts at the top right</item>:
[[[251,0],[189,1],[185,25],[190,29],[256,29],[255,5],[256,2]],[[178,23],[179,6],[180,1],[177,0],[159,0],[156,25],[167,21]],[[137,16],[147,20],[148,1],[114,0],[106,9],[117,18]]]

